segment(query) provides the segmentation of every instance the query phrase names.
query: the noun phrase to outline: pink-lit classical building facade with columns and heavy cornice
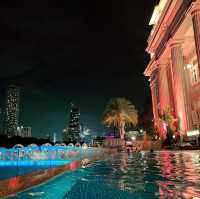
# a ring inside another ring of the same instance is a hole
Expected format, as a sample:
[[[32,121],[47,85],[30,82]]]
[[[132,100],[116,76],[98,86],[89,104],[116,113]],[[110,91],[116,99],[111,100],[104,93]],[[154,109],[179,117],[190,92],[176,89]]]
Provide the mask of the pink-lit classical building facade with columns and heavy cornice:
[[[160,0],[149,25],[154,121],[170,108],[185,135],[200,127],[200,0]]]

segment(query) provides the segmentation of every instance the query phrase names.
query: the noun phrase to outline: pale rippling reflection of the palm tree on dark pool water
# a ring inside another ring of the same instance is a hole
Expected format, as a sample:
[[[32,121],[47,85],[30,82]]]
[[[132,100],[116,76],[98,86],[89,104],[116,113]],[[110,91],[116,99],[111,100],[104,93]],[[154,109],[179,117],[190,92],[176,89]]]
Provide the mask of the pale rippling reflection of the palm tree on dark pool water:
[[[143,192],[145,190],[145,174],[148,167],[145,156],[140,153],[122,153],[111,161],[113,161],[112,172],[106,176],[108,184],[122,191]]]

